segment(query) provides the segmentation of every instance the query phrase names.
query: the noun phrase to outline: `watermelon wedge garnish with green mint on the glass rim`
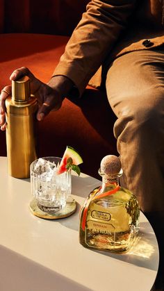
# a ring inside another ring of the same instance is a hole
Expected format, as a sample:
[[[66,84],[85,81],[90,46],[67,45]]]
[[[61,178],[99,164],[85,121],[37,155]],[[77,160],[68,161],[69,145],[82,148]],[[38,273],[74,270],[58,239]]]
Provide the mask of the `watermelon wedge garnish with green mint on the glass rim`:
[[[65,149],[65,153],[63,154],[63,158],[58,167],[58,174],[62,174],[72,169],[80,176],[81,169],[79,168],[78,165],[81,163],[83,163],[83,160],[79,153],[75,149],[73,149],[73,147],[67,146]]]

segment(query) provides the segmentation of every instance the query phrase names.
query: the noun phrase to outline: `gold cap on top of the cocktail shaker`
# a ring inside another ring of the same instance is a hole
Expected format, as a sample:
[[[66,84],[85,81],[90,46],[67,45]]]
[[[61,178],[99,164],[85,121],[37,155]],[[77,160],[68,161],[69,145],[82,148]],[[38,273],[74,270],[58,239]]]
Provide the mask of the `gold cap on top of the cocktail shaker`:
[[[30,79],[28,76],[12,81],[12,99],[14,101],[27,101],[30,95]]]

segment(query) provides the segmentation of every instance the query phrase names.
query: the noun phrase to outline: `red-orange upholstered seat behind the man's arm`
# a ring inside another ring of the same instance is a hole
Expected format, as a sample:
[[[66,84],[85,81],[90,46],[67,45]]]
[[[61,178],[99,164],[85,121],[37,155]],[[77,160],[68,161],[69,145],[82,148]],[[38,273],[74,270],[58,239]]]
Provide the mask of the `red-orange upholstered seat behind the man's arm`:
[[[0,0],[0,90],[17,67],[26,66],[47,82],[88,0]],[[79,76],[80,78],[81,76]],[[78,100],[65,99],[58,112],[38,122],[38,155],[62,156],[66,145],[83,157],[81,170],[99,177],[106,154],[117,154],[113,114],[105,92],[86,88]],[[0,155],[6,136],[0,133]]]

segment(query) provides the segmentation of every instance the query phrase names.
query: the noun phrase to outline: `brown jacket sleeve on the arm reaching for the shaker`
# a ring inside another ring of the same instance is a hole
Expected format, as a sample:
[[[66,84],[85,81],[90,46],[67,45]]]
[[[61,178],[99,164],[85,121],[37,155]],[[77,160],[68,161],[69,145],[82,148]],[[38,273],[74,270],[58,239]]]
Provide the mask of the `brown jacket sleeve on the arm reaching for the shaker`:
[[[126,27],[137,0],[92,0],[74,29],[53,76],[70,78],[79,95]]]

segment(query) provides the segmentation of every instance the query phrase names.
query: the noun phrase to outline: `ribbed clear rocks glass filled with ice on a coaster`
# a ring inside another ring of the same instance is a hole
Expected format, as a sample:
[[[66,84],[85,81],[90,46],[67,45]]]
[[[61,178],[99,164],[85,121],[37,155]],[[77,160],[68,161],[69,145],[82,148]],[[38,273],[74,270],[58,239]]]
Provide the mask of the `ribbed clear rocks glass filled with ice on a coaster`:
[[[47,213],[58,213],[65,208],[72,191],[71,171],[57,173],[60,161],[57,157],[40,158],[30,167],[31,192],[38,208]]]

